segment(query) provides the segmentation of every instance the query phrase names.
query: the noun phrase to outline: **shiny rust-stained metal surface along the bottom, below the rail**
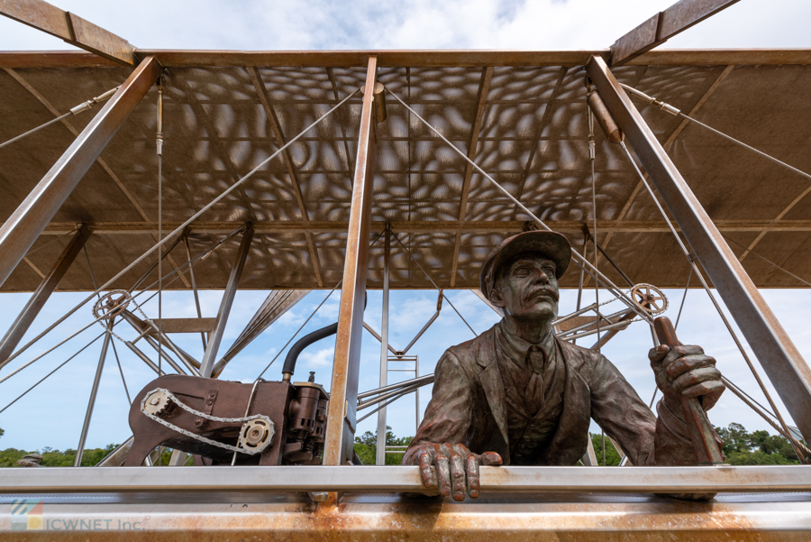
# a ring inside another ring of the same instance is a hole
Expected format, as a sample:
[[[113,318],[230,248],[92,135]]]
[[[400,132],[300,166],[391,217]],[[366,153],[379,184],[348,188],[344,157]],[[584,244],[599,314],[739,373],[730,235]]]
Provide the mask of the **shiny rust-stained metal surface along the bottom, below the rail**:
[[[42,495],[32,495],[33,500]],[[42,530],[12,530],[12,498],[0,504],[0,536],[23,540],[469,540],[497,542],[656,540],[798,542],[811,528],[808,496],[776,501],[736,496],[694,503],[633,497],[549,495],[483,498],[481,503],[417,501],[395,495],[352,495],[319,506],[305,495],[214,494],[187,503],[154,494],[140,499],[108,494],[95,499],[42,501]],[[171,513],[167,513],[171,510]],[[19,518],[16,518],[19,521]],[[23,527],[24,529],[24,527]]]

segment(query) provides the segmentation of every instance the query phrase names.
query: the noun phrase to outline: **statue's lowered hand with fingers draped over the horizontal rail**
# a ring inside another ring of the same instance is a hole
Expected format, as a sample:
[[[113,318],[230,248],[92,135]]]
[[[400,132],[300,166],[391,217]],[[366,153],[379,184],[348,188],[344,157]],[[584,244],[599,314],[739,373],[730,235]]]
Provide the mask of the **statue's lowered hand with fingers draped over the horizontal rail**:
[[[485,452],[478,455],[460,444],[424,444],[415,455],[420,461],[420,475],[426,488],[438,488],[443,497],[464,501],[465,492],[478,498],[478,466],[499,465],[501,455]],[[431,467],[434,467],[433,469]]]

